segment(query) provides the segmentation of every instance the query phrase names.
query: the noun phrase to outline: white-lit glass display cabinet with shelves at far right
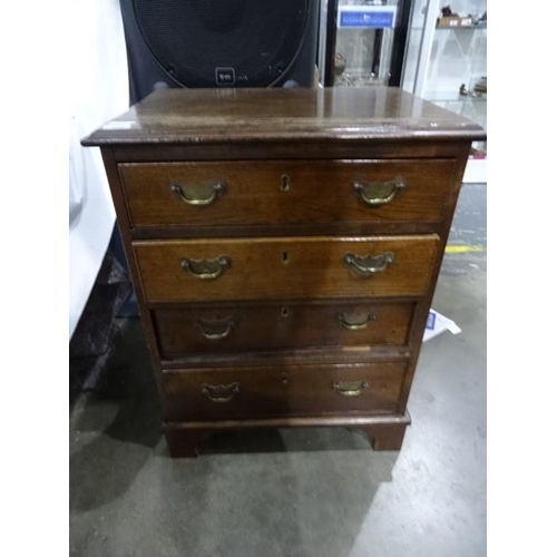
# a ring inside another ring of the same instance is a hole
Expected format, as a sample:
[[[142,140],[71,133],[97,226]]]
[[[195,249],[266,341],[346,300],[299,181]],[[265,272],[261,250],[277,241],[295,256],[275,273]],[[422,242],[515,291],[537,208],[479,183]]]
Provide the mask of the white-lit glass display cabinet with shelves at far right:
[[[401,87],[487,130],[486,0],[414,0]],[[487,141],[472,145],[465,182],[487,182]]]

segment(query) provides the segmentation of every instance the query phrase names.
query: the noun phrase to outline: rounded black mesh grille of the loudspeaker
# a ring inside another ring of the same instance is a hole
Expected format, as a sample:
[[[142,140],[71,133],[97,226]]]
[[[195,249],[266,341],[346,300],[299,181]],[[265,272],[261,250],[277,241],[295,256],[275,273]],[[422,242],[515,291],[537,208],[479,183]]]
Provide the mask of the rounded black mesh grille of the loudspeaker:
[[[134,0],[160,67],[185,87],[264,87],[296,58],[309,0]]]

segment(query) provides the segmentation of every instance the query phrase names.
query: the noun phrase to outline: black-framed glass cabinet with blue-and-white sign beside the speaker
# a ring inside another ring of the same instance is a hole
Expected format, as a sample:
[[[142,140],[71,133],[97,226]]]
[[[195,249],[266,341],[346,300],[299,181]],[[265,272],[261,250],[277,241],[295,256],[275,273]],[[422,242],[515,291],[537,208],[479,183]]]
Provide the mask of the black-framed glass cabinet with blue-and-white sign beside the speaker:
[[[322,0],[320,82],[399,86],[410,7],[411,0]]]

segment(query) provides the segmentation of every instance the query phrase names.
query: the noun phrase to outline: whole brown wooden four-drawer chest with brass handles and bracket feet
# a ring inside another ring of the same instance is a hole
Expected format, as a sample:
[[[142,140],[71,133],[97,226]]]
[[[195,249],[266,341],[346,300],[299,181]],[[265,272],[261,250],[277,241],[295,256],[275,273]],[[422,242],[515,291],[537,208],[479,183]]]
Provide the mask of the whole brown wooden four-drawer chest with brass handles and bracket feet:
[[[400,449],[475,124],[393,88],[170,89],[100,146],[173,456],[215,430]]]

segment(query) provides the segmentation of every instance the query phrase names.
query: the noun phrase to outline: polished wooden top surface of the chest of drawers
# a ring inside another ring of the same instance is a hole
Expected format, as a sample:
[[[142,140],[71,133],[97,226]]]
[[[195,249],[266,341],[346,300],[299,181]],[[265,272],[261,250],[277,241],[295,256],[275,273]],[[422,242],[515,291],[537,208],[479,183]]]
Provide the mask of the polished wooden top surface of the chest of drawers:
[[[477,124],[398,88],[164,89],[84,145],[469,139]]]

